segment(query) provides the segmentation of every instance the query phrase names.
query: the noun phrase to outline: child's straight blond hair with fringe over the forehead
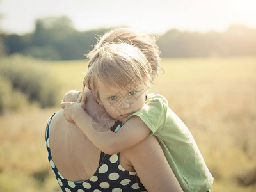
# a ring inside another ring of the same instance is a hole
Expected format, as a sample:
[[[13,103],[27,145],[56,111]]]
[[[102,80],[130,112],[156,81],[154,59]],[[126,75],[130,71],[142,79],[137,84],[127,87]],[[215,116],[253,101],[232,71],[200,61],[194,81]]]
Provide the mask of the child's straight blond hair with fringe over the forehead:
[[[88,71],[84,77],[80,99],[84,101],[85,91],[88,88],[99,102],[97,84],[99,81],[109,87],[128,89],[134,84],[149,86],[151,75],[151,65],[137,47],[124,43],[104,44],[90,52]]]

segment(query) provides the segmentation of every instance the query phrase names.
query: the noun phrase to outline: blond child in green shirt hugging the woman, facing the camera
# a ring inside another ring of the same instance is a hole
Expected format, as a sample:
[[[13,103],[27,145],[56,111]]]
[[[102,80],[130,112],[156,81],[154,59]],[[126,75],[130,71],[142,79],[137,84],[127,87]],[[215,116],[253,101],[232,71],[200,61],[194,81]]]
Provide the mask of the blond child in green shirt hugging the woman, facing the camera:
[[[83,102],[62,104],[67,120],[74,120],[92,143],[107,154],[125,150],[154,134],[182,189],[209,190],[212,175],[188,128],[168,108],[164,97],[147,95],[152,70],[144,54],[128,44],[104,45],[90,54],[88,66],[82,100],[87,87],[109,116],[125,124],[116,134],[90,124]]]

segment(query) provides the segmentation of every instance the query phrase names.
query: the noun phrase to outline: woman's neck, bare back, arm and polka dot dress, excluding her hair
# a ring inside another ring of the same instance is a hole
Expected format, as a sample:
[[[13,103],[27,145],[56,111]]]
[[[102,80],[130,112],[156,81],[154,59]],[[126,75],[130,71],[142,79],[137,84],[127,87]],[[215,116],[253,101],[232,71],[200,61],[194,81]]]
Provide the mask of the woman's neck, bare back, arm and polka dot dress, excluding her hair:
[[[99,105],[90,93],[87,98],[86,111],[95,114]],[[110,118],[104,116],[101,122],[104,120]],[[49,161],[63,191],[141,191],[138,177],[147,191],[182,191],[154,136],[100,160],[100,150],[76,124],[65,120],[63,110],[52,117],[47,127]]]

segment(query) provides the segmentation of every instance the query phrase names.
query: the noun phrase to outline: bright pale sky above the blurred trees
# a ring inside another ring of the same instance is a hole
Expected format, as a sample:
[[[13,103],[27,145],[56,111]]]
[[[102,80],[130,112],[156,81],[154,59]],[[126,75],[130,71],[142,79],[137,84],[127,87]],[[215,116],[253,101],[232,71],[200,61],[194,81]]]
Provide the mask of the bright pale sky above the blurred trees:
[[[78,31],[127,26],[145,33],[256,28],[255,0],[0,0],[0,29],[33,31],[35,20],[67,16]]]

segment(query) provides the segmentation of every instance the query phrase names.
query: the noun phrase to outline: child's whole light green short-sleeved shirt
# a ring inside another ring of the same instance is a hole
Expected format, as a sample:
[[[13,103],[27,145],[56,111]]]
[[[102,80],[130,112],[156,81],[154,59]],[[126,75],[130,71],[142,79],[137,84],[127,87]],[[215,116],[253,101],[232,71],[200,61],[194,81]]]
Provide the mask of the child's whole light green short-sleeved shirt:
[[[186,125],[168,107],[162,95],[149,94],[139,116],[157,137],[164,155],[184,191],[208,191],[213,183],[204,159]],[[126,121],[127,121],[126,120]]]

